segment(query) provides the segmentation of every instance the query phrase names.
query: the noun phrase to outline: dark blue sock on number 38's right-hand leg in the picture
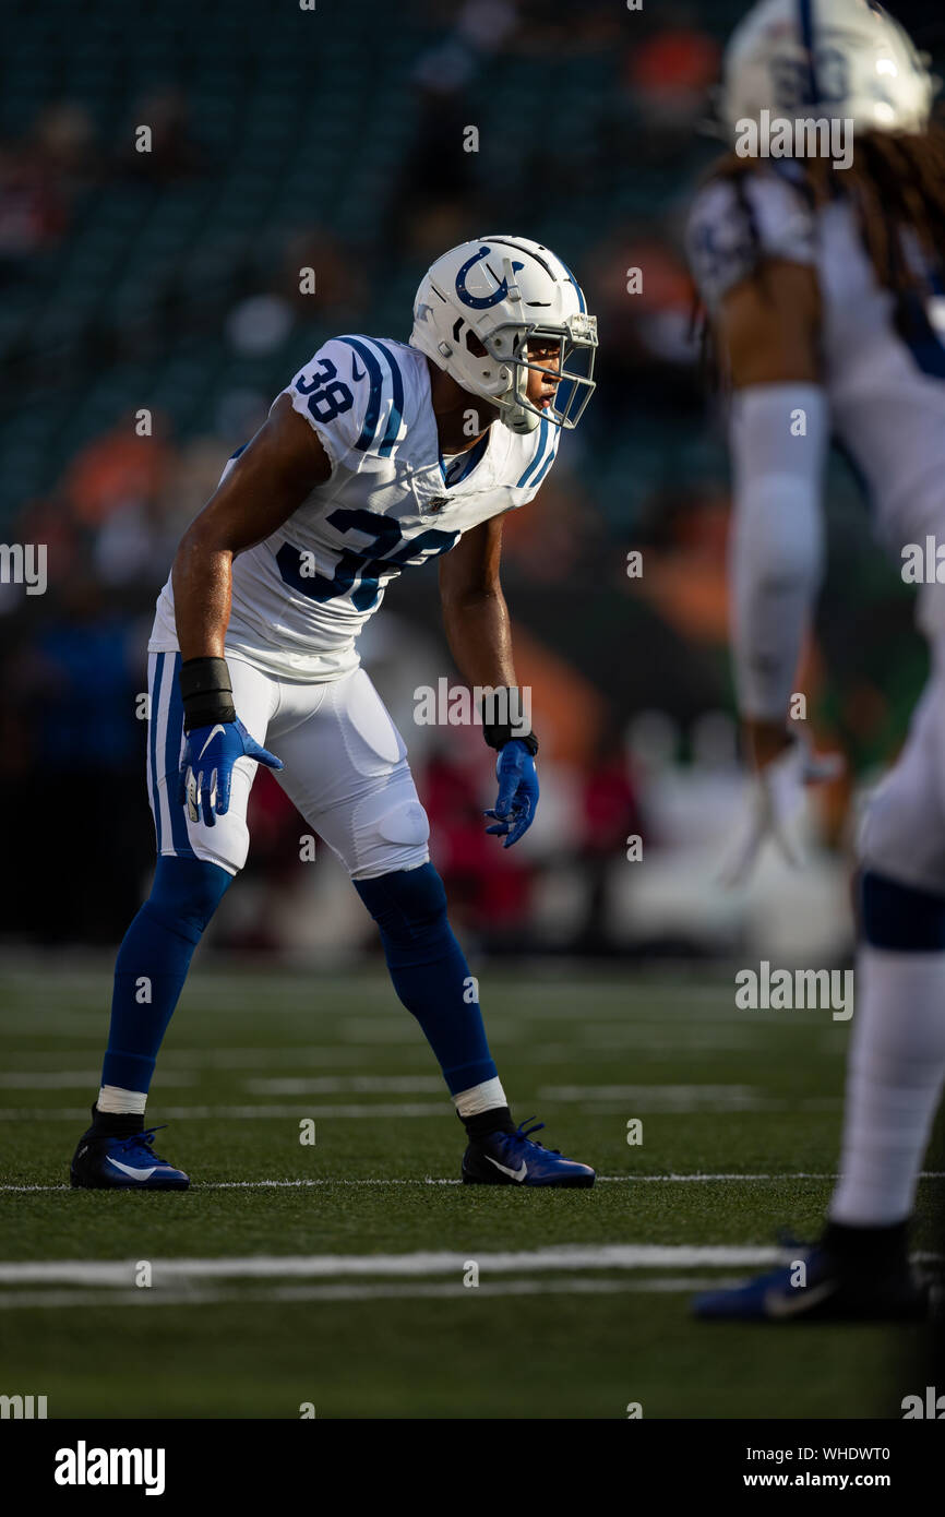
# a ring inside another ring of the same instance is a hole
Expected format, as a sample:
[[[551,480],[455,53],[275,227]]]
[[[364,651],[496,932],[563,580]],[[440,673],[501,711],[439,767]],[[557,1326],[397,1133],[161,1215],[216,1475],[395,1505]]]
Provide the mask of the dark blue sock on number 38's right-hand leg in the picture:
[[[432,863],[353,880],[381,928],[394,991],[440,1060],[449,1094],[494,1080],[475,981],[446,919],[446,890]]]

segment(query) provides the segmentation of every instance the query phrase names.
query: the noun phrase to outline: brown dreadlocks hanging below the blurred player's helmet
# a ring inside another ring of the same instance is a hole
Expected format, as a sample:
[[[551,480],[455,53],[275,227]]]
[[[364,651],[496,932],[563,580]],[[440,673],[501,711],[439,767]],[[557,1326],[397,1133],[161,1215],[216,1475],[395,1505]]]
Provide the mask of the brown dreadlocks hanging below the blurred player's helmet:
[[[793,159],[801,173],[792,184],[812,211],[845,196],[854,206],[860,240],[880,285],[895,297],[895,323],[903,335],[927,326],[924,297],[931,293],[930,273],[940,273],[945,258],[945,127],[933,123],[922,133],[857,133],[849,168],[834,170],[824,158]],[[764,285],[764,258],[751,200],[745,193],[757,159],[734,152],[717,159],[702,184],[730,184],[743,217],[754,264],[749,278]],[[909,241],[925,255],[909,255]],[[699,337],[701,363],[717,370],[711,328],[705,308],[696,302],[693,331]]]

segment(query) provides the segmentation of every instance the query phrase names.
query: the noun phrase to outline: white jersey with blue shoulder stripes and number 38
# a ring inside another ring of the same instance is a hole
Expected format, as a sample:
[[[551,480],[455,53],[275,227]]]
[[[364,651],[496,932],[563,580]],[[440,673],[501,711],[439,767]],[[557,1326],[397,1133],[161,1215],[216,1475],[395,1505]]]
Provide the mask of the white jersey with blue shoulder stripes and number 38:
[[[388,338],[332,338],[282,393],[319,434],[332,472],[234,560],[226,648],[273,674],[335,680],[358,666],[358,633],[400,569],[526,505],[560,434],[545,419],[526,435],[493,422],[476,449],[441,460],[426,358]],[[176,648],[168,578],[149,651]]]

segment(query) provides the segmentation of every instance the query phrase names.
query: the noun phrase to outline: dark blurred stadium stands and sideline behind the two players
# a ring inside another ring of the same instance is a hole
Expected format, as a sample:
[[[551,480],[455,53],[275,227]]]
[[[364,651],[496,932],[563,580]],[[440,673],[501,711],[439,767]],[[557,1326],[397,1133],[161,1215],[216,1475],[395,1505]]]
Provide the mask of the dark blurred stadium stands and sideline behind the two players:
[[[0,586],[0,795],[21,860],[9,936],[120,936],[152,846],[135,693],[181,529],[322,338],[405,340],[431,258],[490,228],[545,240],[578,272],[601,319],[599,391],[507,534],[519,672],[543,733],[546,793],[523,857],[481,845],[488,754],[467,748],[470,734],[431,743],[411,722],[416,684],[449,671],[432,575],[394,587],[387,637],[366,639],[438,862],[466,928],[496,950],[710,953],[760,930],[763,881],[751,900],[710,889],[737,806],[728,502],[681,256],[687,194],[716,150],[698,126],[743,6],[617,9],[359,0],[272,8],[259,26],[259,6],[240,0],[147,14],[124,0],[8,5],[0,532],[50,555],[46,596]],[[141,124],[150,153],[135,150]],[[470,124],[475,153],[463,150]],[[312,296],[299,293],[308,265]],[[640,296],[626,293],[633,265]],[[150,438],[135,435],[143,408]],[[852,798],[895,751],[922,651],[839,466],[830,498],[836,567],[805,689],[851,774],[821,819],[810,900],[842,954]],[[631,548],[645,552],[639,581],[625,573]],[[601,787],[608,804],[595,807]],[[244,906],[228,901],[218,931],[317,947],[309,892],[326,890],[299,869],[287,883],[279,860],[297,857],[299,828],[268,781],[250,822]],[[623,857],[631,831],[663,860],[645,895]],[[80,866],[50,871],[89,857],[94,892]],[[783,884],[769,881],[771,910]],[[355,903],[332,941],[356,947],[367,925]]]

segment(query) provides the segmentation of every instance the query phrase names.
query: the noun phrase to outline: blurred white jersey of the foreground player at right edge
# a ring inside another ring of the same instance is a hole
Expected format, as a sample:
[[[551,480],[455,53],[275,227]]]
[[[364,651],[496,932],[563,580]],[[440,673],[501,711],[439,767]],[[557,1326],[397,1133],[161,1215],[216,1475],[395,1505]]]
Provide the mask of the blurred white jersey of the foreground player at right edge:
[[[913,331],[901,335],[895,299],[877,282],[842,187],[812,209],[787,159],[740,184],[757,252],[816,269],[831,429],[874,502],[881,537],[895,551],[927,532],[945,537],[945,300],[916,299]],[[711,311],[755,256],[731,181],[699,193],[687,244]]]

